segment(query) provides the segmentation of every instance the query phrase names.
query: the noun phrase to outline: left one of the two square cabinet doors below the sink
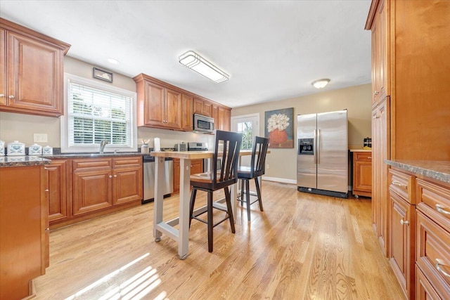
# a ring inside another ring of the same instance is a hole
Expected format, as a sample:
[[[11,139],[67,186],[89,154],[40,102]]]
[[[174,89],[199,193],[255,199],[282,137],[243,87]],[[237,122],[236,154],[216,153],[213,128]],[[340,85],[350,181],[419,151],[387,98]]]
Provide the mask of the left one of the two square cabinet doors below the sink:
[[[73,215],[113,206],[111,169],[78,171],[73,174]]]

